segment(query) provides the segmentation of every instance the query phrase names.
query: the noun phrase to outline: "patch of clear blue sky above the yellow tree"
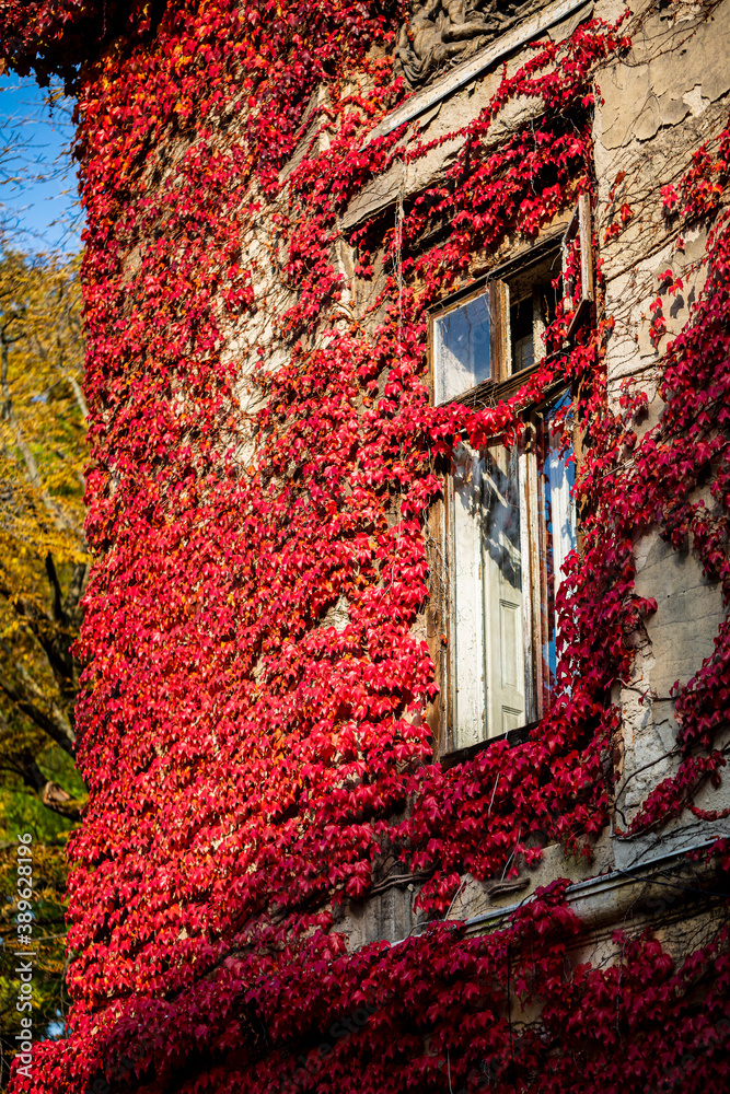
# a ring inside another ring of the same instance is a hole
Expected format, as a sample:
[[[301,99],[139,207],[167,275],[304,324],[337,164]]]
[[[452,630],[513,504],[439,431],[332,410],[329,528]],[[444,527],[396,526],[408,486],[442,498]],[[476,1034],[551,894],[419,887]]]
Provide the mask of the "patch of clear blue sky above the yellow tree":
[[[48,89],[14,74],[0,77],[0,225],[23,251],[81,247],[71,100],[53,110]]]

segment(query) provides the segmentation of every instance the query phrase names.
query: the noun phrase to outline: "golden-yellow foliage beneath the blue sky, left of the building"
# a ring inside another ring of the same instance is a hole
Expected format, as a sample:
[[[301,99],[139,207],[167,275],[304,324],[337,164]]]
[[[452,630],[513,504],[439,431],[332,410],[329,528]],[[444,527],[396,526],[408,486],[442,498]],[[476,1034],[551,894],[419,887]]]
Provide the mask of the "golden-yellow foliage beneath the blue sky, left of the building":
[[[0,354],[0,714],[70,750],[88,562],[76,261],[2,254]],[[0,722],[0,764],[15,735]]]

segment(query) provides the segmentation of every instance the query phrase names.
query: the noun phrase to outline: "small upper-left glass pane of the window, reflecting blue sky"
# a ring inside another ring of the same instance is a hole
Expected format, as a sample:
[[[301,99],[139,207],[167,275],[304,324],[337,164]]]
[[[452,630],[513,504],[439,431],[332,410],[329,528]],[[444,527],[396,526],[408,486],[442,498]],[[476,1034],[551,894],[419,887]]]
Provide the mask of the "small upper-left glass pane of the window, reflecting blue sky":
[[[434,400],[463,395],[491,375],[487,293],[433,322]]]

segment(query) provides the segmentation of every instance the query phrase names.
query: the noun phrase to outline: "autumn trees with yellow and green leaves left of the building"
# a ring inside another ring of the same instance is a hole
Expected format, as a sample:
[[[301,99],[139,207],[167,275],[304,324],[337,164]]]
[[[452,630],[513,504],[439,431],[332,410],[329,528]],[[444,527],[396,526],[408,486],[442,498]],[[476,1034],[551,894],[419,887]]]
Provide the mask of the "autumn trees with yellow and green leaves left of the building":
[[[72,760],[73,643],[88,569],[76,261],[2,251],[0,354],[0,885],[14,893],[16,834],[31,830],[40,941],[34,1021],[53,1033],[62,1009],[65,847],[84,800]],[[0,933],[13,930],[7,896]],[[2,968],[5,1066],[15,989],[12,969]]]

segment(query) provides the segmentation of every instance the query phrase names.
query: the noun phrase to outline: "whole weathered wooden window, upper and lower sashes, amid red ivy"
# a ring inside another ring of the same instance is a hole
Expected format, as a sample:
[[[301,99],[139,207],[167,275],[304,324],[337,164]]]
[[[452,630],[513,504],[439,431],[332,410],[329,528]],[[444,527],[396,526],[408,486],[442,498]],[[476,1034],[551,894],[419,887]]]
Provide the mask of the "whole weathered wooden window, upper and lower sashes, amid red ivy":
[[[559,274],[572,329],[578,311],[587,314],[587,213],[584,202],[563,238],[434,313],[437,405],[494,403],[524,382],[545,354]],[[573,269],[578,274],[569,278]],[[448,484],[447,752],[535,721],[555,688],[556,597],[576,546],[569,393],[554,393],[524,417],[523,435],[510,447],[476,452],[460,444]]]

